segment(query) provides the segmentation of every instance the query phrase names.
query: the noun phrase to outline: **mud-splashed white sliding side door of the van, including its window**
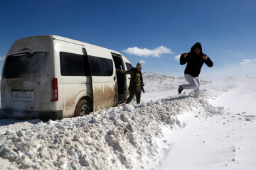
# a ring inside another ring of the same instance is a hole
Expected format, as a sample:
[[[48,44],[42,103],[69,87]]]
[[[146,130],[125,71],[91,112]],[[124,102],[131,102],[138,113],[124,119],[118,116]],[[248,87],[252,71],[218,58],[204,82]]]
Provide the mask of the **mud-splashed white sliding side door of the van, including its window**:
[[[98,55],[99,51],[97,55],[92,50],[84,52],[89,61],[92,78],[93,111],[117,106],[118,92],[111,56],[106,56],[106,52],[102,52],[101,56]]]

